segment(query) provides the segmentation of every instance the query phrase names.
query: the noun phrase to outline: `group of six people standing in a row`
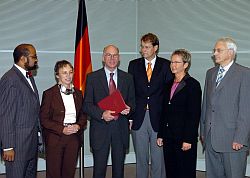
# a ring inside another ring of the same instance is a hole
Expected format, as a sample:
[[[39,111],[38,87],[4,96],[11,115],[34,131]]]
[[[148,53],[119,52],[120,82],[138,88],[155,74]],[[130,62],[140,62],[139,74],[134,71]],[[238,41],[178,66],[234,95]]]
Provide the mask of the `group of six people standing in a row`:
[[[43,92],[41,106],[30,71],[37,54],[30,44],[14,50],[14,65],[0,80],[0,140],[7,178],[35,178],[37,132],[41,124],[47,178],[73,178],[83,131],[90,120],[93,178],[105,178],[109,152],[112,177],[124,177],[132,134],[136,178],[195,178],[198,128],[207,178],[243,178],[250,146],[250,70],[235,62],[237,46],[220,38],[212,51],[215,66],[205,86],[189,75],[191,54],[175,50],[158,56],[159,39],[141,38],[141,58],[118,68],[119,49],[103,49],[103,68],[87,76],[84,97],[75,88],[67,60],[54,67],[56,84]],[[125,109],[103,110],[98,103],[119,90]]]

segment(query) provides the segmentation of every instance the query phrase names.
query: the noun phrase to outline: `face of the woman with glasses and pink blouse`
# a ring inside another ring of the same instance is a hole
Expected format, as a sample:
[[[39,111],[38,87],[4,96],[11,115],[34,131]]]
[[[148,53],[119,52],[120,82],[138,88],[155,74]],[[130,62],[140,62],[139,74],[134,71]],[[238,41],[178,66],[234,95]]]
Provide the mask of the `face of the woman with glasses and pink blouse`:
[[[185,74],[188,64],[184,63],[180,55],[173,55],[171,58],[170,68],[173,74]]]

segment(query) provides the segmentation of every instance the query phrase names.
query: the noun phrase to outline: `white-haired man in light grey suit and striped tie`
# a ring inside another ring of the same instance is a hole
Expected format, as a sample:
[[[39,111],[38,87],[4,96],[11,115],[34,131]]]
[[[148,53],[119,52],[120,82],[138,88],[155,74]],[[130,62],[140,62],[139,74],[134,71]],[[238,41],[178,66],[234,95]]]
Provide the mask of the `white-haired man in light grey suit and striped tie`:
[[[250,146],[250,71],[235,62],[231,38],[217,40],[217,66],[206,74],[201,114],[207,178],[243,178]]]

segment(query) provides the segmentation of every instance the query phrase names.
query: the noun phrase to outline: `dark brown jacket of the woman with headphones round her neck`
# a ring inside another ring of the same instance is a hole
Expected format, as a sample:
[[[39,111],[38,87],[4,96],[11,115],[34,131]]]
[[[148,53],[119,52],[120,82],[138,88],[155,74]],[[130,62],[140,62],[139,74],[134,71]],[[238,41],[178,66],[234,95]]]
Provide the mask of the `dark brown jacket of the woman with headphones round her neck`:
[[[80,144],[82,143],[82,133],[87,125],[87,116],[82,112],[83,97],[82,92],[75,89],[73,93],[76,107],[76,124],[81,128],[77,132]],[[40,120],[43,128],[43,135],[46,145],[56,145],[63,135],[63,121],[65,107],[58,85],[54,85],[43,92],[41,103]]]

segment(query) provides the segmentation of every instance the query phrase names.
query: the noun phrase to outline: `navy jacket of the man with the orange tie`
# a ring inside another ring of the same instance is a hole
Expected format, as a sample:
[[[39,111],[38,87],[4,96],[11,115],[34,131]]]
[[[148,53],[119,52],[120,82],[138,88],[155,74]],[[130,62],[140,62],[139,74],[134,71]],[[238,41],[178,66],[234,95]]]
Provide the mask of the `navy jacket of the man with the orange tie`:
[[[150,121],[154,131],[159,130],[159,119],[161,113],[161,105],[163,96],[163,88],[167,81],[173,78],[170,70],[170,62],[166,59],[156,57],[151,81],[148,82],[145,59],[139,58],[130,61],[128,72],[134,77],[136,109],[132,115],[132,129],[138,130],[145,116],[145,108],[149,105]]]

